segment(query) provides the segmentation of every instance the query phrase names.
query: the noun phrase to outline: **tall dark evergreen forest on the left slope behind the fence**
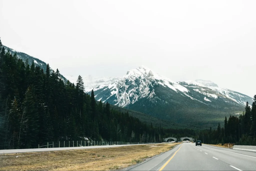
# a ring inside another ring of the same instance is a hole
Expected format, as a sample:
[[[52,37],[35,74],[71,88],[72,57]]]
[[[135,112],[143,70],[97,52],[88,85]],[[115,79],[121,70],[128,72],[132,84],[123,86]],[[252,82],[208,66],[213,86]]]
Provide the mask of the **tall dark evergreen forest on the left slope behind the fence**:
[[[162,142],[164,137],[192,134],[189,129],[166,129],[141,122],[63,82],[58,69],[46,71],[5,52],[0,40],[0,149],[37,148],[65,140]]]

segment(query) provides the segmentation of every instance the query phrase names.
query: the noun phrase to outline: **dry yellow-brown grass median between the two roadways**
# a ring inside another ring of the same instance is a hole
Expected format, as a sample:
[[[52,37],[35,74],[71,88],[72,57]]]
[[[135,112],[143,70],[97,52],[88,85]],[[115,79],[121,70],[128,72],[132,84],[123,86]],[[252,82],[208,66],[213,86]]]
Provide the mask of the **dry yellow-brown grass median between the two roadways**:
[[[177,144],[4,154],[0,155],[0,170],[116,170],[166,152]]]

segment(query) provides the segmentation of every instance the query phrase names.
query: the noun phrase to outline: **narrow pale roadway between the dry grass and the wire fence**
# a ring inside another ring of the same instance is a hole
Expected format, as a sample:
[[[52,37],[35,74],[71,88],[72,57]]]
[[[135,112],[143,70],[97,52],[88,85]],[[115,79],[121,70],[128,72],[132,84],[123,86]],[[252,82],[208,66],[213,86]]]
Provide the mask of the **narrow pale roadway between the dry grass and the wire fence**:
[[[156,143],[156,144],[158,144],[158,143]],[[129,145],[131,145],[131,144],[129,144]],[[101,146],[85,146],[85,147],[11,149],[11,150],[0,150],[0,154],[59,151],[59,150],[77,150],[77,149],[89,149],[89,148],[111,148],[111,147],[122,147],[122,146],[129,146],[129,145],[101,145]],[[132,145],[143,145],[143,144],[132,144]]]

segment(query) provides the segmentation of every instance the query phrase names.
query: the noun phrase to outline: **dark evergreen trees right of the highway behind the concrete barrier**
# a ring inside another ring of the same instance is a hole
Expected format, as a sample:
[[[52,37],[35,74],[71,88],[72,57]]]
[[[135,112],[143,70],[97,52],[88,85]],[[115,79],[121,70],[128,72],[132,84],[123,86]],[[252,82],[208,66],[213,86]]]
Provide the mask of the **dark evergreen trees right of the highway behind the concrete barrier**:
[[[201,131],[196,139],[207,144],[234,143],[237,145],[256,145],[256,95],[252,107],[246,103],[245,111],[240,116],[225,117],[224,127],[220,123],[217,129]]]

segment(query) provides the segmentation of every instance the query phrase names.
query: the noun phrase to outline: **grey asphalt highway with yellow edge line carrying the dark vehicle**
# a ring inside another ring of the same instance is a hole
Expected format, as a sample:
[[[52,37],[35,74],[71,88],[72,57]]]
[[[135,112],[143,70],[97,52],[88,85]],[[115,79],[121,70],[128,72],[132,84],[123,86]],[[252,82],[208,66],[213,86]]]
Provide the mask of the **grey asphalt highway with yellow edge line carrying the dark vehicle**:
[[[256,153],[182,143],[130,170],[256,170]]]

